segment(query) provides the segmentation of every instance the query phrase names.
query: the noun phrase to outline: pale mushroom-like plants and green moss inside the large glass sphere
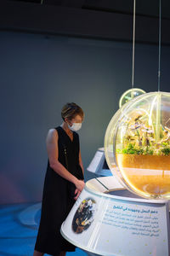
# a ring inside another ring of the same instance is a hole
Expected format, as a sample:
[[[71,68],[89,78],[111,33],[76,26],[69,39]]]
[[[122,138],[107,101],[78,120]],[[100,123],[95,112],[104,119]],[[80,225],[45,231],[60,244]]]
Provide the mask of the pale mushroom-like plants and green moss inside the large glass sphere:
[[[122,133],[122,147],[117,147],[116,153],[170,155],[170,129],[154,122],[149,124],[145,114],[127,118],[119,131]]]

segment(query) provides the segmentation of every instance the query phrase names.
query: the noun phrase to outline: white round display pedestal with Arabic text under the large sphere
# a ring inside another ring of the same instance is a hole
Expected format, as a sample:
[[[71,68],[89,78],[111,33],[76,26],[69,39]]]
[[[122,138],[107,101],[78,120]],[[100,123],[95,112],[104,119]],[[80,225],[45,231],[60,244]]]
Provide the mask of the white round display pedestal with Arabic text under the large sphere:
[[[169,256],[168,203],[133,195],[115,177],[94,178],[86,183],[61,234],[88,255]]]

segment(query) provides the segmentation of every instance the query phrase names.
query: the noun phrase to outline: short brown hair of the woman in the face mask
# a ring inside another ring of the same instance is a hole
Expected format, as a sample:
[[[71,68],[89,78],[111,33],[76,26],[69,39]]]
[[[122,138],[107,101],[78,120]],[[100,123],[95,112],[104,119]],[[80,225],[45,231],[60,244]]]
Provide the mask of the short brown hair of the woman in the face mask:
[[[65,106],[61,109],[61,117],[65,121],[65,119],[74,119],[76,116],[80,115],[83,119],[84,113],[82,108],[80,108],[76,103],[66,103]]]

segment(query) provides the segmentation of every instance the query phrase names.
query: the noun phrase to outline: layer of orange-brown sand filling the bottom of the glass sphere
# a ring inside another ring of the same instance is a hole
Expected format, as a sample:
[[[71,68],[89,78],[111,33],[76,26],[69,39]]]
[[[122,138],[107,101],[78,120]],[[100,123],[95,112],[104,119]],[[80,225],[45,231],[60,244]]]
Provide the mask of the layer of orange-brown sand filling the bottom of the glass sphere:
[[[170,199],[170,156],[116,154],[126,183],[139,195]]]

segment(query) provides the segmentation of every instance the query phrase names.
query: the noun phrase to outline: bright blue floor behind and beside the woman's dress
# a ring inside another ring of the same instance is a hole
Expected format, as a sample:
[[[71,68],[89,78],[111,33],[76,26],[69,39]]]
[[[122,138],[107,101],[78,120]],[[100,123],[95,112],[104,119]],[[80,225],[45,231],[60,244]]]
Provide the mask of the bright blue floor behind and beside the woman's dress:
[[[0,256],[31,256],[41,203],[0,206]],[[48,255],[48,254],[45,254]],[[80,248],[66,256],[87,256]]]

